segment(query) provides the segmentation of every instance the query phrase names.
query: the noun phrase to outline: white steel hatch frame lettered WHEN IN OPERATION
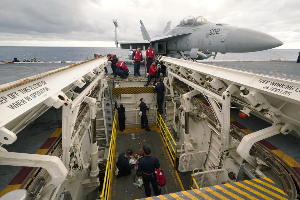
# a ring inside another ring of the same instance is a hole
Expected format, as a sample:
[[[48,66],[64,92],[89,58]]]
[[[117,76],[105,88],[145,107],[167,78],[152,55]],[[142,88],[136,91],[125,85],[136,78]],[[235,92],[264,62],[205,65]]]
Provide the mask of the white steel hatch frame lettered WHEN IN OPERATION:
[[[92,191],[99,186],[95,118],[98,109],[97,101],[101,101],[102,92],[108,86],[103,78],[104,67],[107,64],[107,59],[102,56],[0,86],[0,96],[2,97],[0,108],[6,113],[0,117],[1,146],[2,144],[12,144],[17,139],[16,134],[20,130],[50,107],[63,106],[62,160],[55,156],[7,152],[0,146],[1,164],[41,167],[47,170],[51,181],[46,181],[38,195],[39,198],[45,197],[55,188],[57,188],[55,191],[58,192],[65,178],[67,176],[72,178],[70,169],[75,162],[73,159],[75,155],[83,158],[81,147],[83,138],[89,134],[89,130],[93,134],[90,141],[90,163],[83,163],[81,159],[77,162],[81,163],[85,169],[91,165],[89,173],[91,179],[83,181],[84,188],[89,187],[88,190]],[[98,76],[94,78],[96,73]],[[77,86],[82,88],[87,83],[85,80],[88,80],[90,84],[80,94],[74,93],[74,88]],[[45,86],[44,89],[37,92],[39,87],[43,86]],[[99,86],[98,99],[88,97],[96,86]],[[72,101],[70,97],[75,99]],[[88,104],[89,111],[75,130],[78,111],[83,102]],[[24,104],[26,106],[22,106]],[[14,130],[15,132],[13,132]],[[74,153],[72,163],[70,163],[70,152]],[[47,199],[49,199],[48,197]]]

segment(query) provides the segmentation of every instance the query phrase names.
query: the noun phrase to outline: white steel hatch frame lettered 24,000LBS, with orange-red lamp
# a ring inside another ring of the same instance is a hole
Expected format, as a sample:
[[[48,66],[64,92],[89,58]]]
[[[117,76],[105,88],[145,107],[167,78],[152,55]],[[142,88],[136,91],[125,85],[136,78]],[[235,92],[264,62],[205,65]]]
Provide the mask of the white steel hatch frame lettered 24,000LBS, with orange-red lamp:
[[[266,163],[260,162],[260,159],[255,155],[250,155],[250,149],[254,143],[279,133],[283,135],[292,134],[294,137],[300,138],[299,109],[294,109],[299,108],[300,105],[299,81],[170,57],[162,57],[160,61],[168,67],[168,77],[164,78],[164,85],[170,90],[172,102],[174,103],[174,131],[183,132],[183,135],[179,137],[184,138],[183,143],[195,146],[195,149],[199,148],[199,146],[196,148],[197,143],[190,143],[193,138],[189,136],[187,130],[187,116],[198,114],[195,113],[198,108],[190,102],[191,98],[196,94],[201,94],[211,106],[214,117],[210,117],[210,122],[214,121],[214,123],[208,122],[206,114],[201,111],[198,118],[201,118],[211,128],[212,132],[217,133],[220,137],[221,151],[219,151],[219,157],[217,157],[220,163],[219,166],[213,165],[212,168],[220,169],[224,167],[222,156],[226,152],[230,152],[230,155],[234,155],[234,158],[237,158],[239,162],[244,159],[252,166],[250,168],[254,168],[262,175],[256,167],[261,164],[266,165]],[[187,84],[190,92],[180,93],[179,96],[174,89],[175,79]],[[180,101],[179,108],[176,108],[175,99],[177,99],[177,103]],[[230,109],[237,108],[232,105],[241,107],[238,109],[240,109],[242,117],[247,117],[251,113],[270,123],[270,127],[248,134],[240,142],[237,141],[229,132],[231,129]],[[181,130],[178,130],[175,126],[175,117],[179,109],[183,109],[185,115],[184,122],[183,120],[180,121],[183,125]],[[211,141],[207,145],[210,145],[210,143]],[[234,146],[230,146],[232,144]],[[207,152],[207,156],[208,154]],[[212,169],[209,167],[206,170],[211,171]],[[222,176],[225,178],[223,181],[228,181],[226,174]]]

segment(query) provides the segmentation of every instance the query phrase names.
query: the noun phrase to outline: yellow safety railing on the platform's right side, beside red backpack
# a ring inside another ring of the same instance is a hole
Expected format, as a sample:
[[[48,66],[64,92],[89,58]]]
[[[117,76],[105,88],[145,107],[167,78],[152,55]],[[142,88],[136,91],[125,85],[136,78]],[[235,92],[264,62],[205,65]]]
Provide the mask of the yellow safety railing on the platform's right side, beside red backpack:
[[[169,150],[169,153],[172,158],[172,165],[173,165],[173,168],[175,169],[178,144],[174,141],[174,138],[172,137],[172,135],[169,131],[169,128],[166,126],[165,122],[163,121],[162,116],[158,115],[157,113],[158,112],[156,109],[156,125],[159,128],[159,132],[163,136],[165,148]]]

